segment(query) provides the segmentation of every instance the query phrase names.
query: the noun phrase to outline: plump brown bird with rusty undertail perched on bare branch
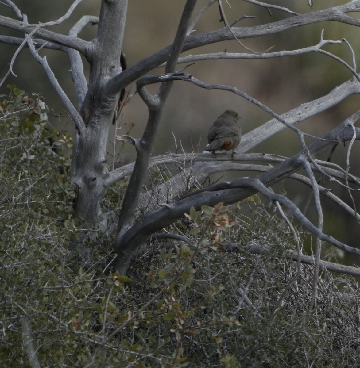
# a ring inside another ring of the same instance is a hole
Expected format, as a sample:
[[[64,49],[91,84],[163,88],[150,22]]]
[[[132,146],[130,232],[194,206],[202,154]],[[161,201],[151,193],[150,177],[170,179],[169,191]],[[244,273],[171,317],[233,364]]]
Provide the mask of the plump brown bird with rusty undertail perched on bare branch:
[[[209,129],[209,144],[205,147],[205,151],[234,151],[241,140],[239,119],[239,114],[234,110],[222,113]]]

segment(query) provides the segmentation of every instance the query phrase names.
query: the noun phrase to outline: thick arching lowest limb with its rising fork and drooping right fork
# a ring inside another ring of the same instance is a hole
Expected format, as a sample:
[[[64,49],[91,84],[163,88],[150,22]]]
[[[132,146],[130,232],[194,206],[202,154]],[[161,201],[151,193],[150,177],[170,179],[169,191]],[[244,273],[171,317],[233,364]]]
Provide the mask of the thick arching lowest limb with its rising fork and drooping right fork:
[[[308,146],[307,151],[312,157],[316,157],[323,153],[329,146],[332,145],[327,139],[336,141],[350,140],[353,137],[353,129],[349,127],[348,121],[352,121],[356,117],[359,118],[360,112],[354,114],[344,123],[324,135],[322,141],[315,141]],[[360,139],[360,128],[356,129],[356,138]],[[115,251],[118,254],[116,268],[121,273],[125,273],[134,251],[145,241],[152,233],[162,229],[165,226],[172,224],[174,221],[183,216],[193,206],[195,209],[200,209],[203,205],[213,206],[219,202],[224,204],[232,204],[239,202],[256,192],[261,192],[265,197],[283,203],[292,210],[294,216],[306,226],[310,231],[316,234],[321,240],[339,247],[340,249],[360,255],[360,250],[349,247],[332,237],[326,236],[317,229],[300,210],[292,204],[286,197],[273,194],[266,187],[277,183],[283,178],[289,177],[294,171],[299,170],[302,166],[299,158],[307,159],[308,153],[303,150],[298,155],[278,164],[267,172],[261,174],[256,180],[237,179],[230,183],[220,183],[212,185],[208,188],[203,188],[194,192],[183,195],[171,204],[155,210],[144,216],[138,223],[133,225],[131,229],[125,233],[118,234],[115,240]]]

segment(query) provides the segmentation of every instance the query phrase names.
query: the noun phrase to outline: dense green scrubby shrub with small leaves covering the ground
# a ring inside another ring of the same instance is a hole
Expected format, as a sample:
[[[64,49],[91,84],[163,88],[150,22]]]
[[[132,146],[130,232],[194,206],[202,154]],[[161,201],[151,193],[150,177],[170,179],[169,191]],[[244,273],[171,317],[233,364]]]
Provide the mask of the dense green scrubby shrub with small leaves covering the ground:
[[[3,367],[358,366],[356,283],[323,273],[310,311],[313,269],[286,258],[273,206],[192,209],[167,229],[188,244],[154,242],[129,277],[105,275],[112,236],[82,241],[71,218],[71,137],[49,129],[41,95],[10,86],[0,111]]]

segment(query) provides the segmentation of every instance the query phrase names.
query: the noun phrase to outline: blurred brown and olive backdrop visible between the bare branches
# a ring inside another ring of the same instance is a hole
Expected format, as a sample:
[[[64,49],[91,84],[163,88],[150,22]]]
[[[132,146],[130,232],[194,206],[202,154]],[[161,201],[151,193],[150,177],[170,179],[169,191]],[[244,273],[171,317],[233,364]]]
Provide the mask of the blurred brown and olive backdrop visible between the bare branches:
[[[348,1],[314,1],[313,8],[308,6],[307,0],[272,0],[272,4],[287,7],[298,13],[309,13],[345,4]],[[22,13],[28,15],[29,22],[36,24],[56,20],[66,13],[73,0],[14,0],[20,7]],[[195,14],[206,4],[207,0],[199,0]],[[237,18],[248,15],[255,18],[241,20],[236,26],[254,26],[281,20],[292,15],[283,11],[268,10],[255,6],[241,0],[223,1],[223,8],[229,24]],[[126,55],[128,66],[140,61],[142,58],[162,49],[172,43],[177,25],[180,20],[185,0],[131,0],[128,4],[128,16],[126,20],[125,38],[123,52]],[[85,0],[63,24],[53,26],[48,29],[67,34],[71,26],[81,18],[82,15],[99,15],[100,1]],[[0,4],[0,14],[15,18],[11,9]],[[359,18],[359,13],[351,14]],[[195,26],[196,33],[207,32],[218,28],[223,28],[220,22],[220,14],[217,3],[213,4],[200,18]],[[81,33],[80,37],[91,40],[96,35],[97,26],[88,25]],[[324,29],[324,39],[342,40],[345,38],[353,47],[356,53],[356,61],[360,61],[359,43],[360,30],[355,26],[342,24],[339,22],[321,22],[313,25],[306,25],[300,28],[290,29],[274,35],[250,38],[241,42],[255,52],[264,52],[272,47],[271,52],[280,50],[294,50],[301,47],[316,45],[320,40],[321,30]],[[20,32],[12,31],[1,27],[1,34],[22,37]],[[6,72],[8,63],[11,60],[17,46],[0,44],[1,59],[0,73]],[[201,47],[184,53],[198,54],[209,52],[247,52],[236,41],[226,41]],[[342,45],[327,45],[325,50],[341,57],[352,65],[352,56],[349,48],[343,42]],[[67,54],[61,51],[42,50],[41,55],[46,55],[50,66],[60,82],[60,85],[69,98],[76,105],[73,82],[70,75],[70,64]],[[88,76],[88,64],[84,60],[86,76]],[[184,64],[179,66],[182,68]],[[2,86],[0,93],[7,93],[6,84],[16,84],[18,88],[25,91],[41,92],[46,99],[47,105],[55,112],[66,115],[60,98],[54,92],[42,67],[33,60],[27,49],[24,49],[17,57],[14,68],[17,77],[11,75]],[[157,68],[152,73],[158,74],[163,68]],[[248,93],[255,99],[260,100],[273,111],[282,114],[291,110],[301,103],[309,102],[329,93],[335,86],[342,84],[351,78],[351,73],[338,61],[319,54],[308,53],[300,56],[282,57],[267,60],[208,60],[199,61],[188,67],[186,72],[194,75],[206,83],[218,83],[235,86],[241,91]],[[4,74],[3,73],[3,74]],[[130,94],[134,92],[135,85],[128,86]],[[155,92],[156,86],[149,87],[149,91]],[[206,145],[208,128],[213,121],[226,109],[236,110],[242,116],[243,133],[251,131],[255,127],[270,120],[271,117],[260,108],[252,105],[239,96],[230,92],[205,90],[186,82],[175,82],[166,102],[162,116],[159,135],[153,155],[166,152],[174,152],[176,137],[177,145],[181,144],[186,152],[191,152],[192,148],[202,152]],[[350,96],[331,110],[319,114],[299,125],[303,131],[321,136],[331,130],[336,125],[349,117],[359,109],[359,96]],[[120,117],[121,130],[119,134],[126,134],[131,127],[130,135],[139,138],[147,122],[147,107],[135,95],[123,109]],[[72,131],[73,124],[67,118],[55,118],[50,116],[51,123],[62,130]],[[113,137],[110,133],[110,138]],[[338,146],[333,155],[332,162],[345,167],[346,152],[348,144]],[[198,148],[197,148],[198,147]],[[109,146],[110,148],[110,146]],[[125,163],[135,159],[135,149],[130,144],[119,144],[120,159]],[[268,141],[255,147],[252,152],[277,153],[285,156],[292,156],[301,149],[297,135],[291,131],[283,131]],[[355,143],[350,156],[350,171],[359,176],[359,145]],[[324,155],[322,159],[326,159]],[[230,178],[239,176],[255,176],[254,173],[230,173]],[[310,189],[296,184],[293,181],[286,181],[279,184],[282,190],[287,192],[289,197],[300,206],[301,209],[310,195]],[[339,195],[346,203],[351,205],[349,195],[344,188],[326,182],[323,184],[332,188],[335,194]],[[360,206],[360,197],[354,192],[357,206]],[[322,198],[326,210],[324,231],[334,236],[340,241],[353,246],[358,245],[360,237],[360,226],[351,216],[344,211],[333,206],[327,199]],[[313,211],[310,207],[308,212]],[[313,220],[316,218],[313,217]],[[353,257],[350,257],[353,258]]]

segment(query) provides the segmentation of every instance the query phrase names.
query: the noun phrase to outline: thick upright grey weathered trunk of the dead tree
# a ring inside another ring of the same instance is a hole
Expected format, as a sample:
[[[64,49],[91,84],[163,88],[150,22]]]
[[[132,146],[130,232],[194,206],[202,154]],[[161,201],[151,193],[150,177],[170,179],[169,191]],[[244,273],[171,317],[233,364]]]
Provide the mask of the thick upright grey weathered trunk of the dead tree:
[[[80,114],[85,130],[76,133],[71,177],[79,186],[75,216],[93,222],[100,213],[105,192],[106,145],[117,93],[109,93],[107,82],[121,72],[127,0],[102,0],[99,27],[92,41],[89,86]],[[111,21],[110,21],[111,20]]]

